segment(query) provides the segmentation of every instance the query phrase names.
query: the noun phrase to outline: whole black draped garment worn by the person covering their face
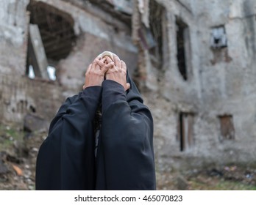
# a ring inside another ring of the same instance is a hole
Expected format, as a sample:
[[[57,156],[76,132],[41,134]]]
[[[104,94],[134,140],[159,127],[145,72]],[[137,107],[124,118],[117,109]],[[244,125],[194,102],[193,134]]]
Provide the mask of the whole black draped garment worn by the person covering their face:
[[[36,190],[155,190],[152,115],[129,75],[127,81],[127,92],[104,81],[65,101],[38,152]]]

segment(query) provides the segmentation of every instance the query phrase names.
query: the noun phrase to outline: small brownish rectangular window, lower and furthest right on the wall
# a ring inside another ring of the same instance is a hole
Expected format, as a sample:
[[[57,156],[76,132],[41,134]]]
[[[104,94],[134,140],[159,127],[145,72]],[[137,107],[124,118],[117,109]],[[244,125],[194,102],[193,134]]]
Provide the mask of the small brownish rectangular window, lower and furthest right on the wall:
[[[235,139],[235,127],[233,124],[232,115],[218,116],[221,124],[221,141]]]

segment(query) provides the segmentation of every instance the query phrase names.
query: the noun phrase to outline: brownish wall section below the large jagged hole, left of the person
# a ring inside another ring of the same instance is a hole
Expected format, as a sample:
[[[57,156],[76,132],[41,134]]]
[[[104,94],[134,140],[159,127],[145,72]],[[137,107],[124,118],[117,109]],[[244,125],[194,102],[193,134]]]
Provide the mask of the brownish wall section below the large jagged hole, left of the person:
[[[1,122],[23,127],[27,114],[49,122],[63,102],[62,92],[54,82],[2,74],[0,85]]]

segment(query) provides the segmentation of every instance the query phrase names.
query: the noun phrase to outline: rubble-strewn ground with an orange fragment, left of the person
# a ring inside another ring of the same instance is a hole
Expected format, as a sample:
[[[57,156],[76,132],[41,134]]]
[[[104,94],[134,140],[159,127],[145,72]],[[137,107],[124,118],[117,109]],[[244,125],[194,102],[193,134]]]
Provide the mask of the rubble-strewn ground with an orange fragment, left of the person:
[[[46,132],[0,127],[0,190],[35,190],[35,163]]]

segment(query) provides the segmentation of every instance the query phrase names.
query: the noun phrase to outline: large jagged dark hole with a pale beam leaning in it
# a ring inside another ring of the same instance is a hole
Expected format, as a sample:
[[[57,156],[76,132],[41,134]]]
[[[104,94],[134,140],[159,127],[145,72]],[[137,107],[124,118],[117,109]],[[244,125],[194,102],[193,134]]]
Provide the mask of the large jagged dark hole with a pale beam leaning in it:
[[[55,67],[65,59],[75,43],[71,15],[40,1],[30,1],[29,40],[26,75],[54,81]],[[32,74],[34,73],[34,75]]]

